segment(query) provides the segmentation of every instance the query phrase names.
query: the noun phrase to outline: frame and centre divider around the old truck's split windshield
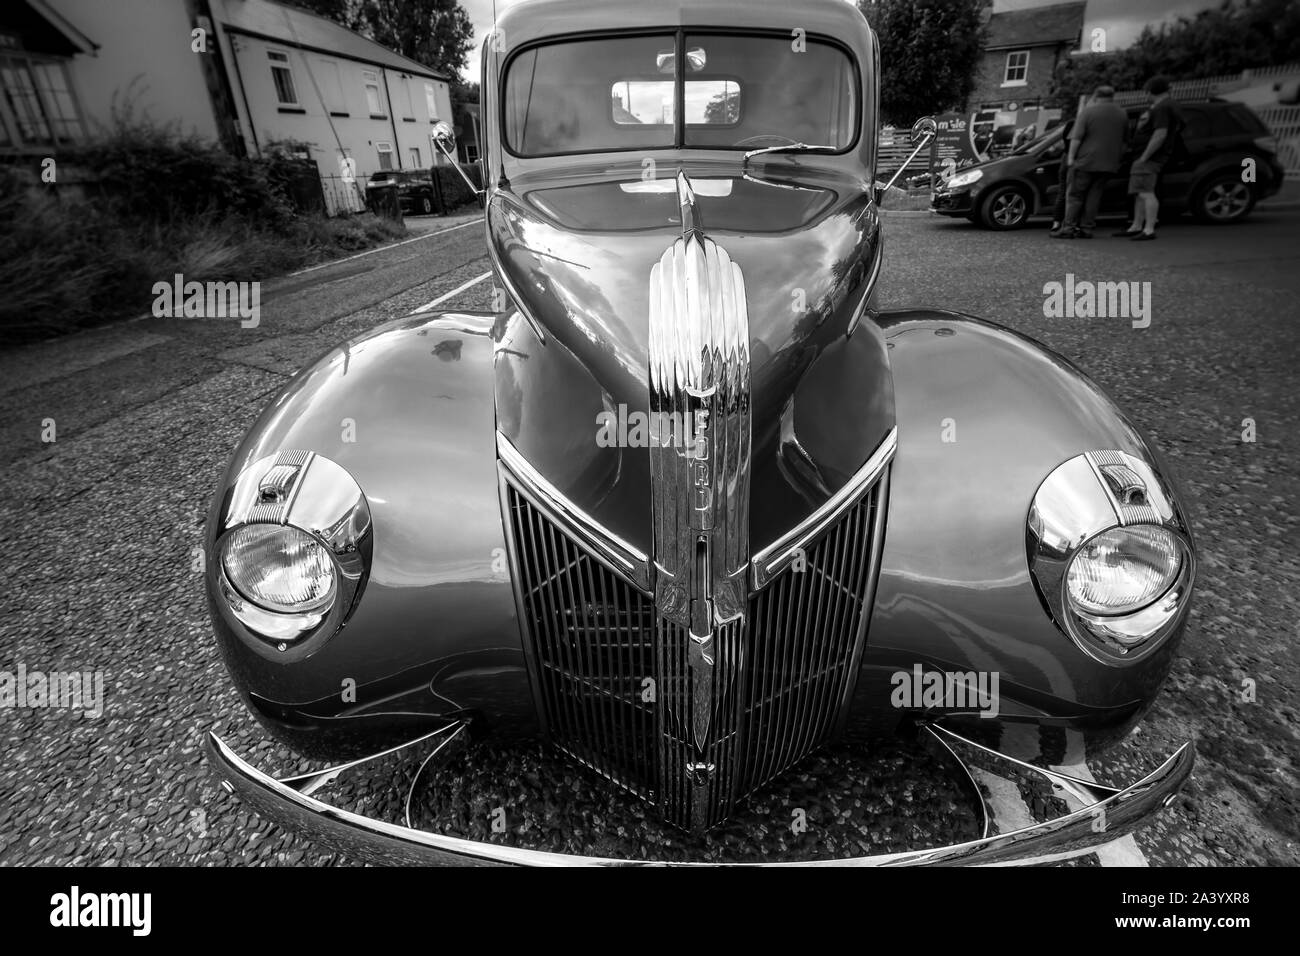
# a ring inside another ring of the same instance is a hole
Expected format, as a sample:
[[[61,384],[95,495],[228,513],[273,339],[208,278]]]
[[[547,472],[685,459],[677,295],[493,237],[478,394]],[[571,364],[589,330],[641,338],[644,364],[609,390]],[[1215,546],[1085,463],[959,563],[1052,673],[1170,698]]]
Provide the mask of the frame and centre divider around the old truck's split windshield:
[[[585,40],[607,40],[607,39],[632,39],[638,36],[675,36],[673,51],[676,55],[676,61],[682,62],[682,57],[686,55],[686,35],[690,36],[746,36],[746,38],[762,38],[762,39],[776,39],[789,42],[790,35],[788,31],[783,30],[764,30],[764,29],[738,29],[728,30],[725,27],[677,27],[675,31],[664,30],[663,27],[645,27],[637,30],[598,30],[586,31],[582,34],[575,34],[571,36],[547,36],[540,40],[533,40],[532,43],[525,43],[517,49],[512,49],[510,56],[506,57],[506,62],[500,68],[500,73],[497,74],[497,122],[500,130],[500,147],[503,152],[511,159],[516,160],[540,160],[540,159],[555,159],[559,156],[597,156],[602,153],[620,153],[620,152],[650,152],[650,151],[664,151],[664,150],[696,150],[699,152],[744,152],[733,147],[722,146],[686,146],[685,144],[685,72],[675,70],[673,81],[676,83],[676,94],[673,99],[673,142],[670,146],[623,146],[623,147],[608,147],[603,150],[566,150],[562,152],[545,152],[545,153],[521,153],[516,152],[514,143],[510,142],[507,135],[508,126],[506,125],[506,83],[510,78],[510,70],[515,65],[515,60],[524,53],[533,49],[540,49],[542,47],[558,46],[562,43],[578,43]],[[853,55],[853,49],[836,36],[828,34],[807,34],[805,40],[809,43],[822,43],[828,47],[833,47],[844,55],[848,60],[849,66],[853,69],[853,137],[849,139],[848,144],[842,150],[820,151],[819,156],[846,156],[854,152],[862,144],[862,127],[863,127],[863,109],[866,107],[866,88],[863,87],[862,79],[862,64],[858,62],[858,57]],[[612,122],[612,118],[611,118]],[[714,125],[710,124],[692,124],[696,129],[712,129]]]

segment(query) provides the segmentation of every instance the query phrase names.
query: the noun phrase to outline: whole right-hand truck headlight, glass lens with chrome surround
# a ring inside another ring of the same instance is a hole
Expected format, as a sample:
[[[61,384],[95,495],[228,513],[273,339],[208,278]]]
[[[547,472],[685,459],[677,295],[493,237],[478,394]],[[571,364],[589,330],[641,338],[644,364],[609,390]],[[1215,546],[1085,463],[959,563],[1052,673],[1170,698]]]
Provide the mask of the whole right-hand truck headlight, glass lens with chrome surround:
[[[1186,617],[1196,574],[1173,489],[1143,459],[1089,451],[1039,486],[1030,574],[1056,624],[1089,657],[1139,661]]]

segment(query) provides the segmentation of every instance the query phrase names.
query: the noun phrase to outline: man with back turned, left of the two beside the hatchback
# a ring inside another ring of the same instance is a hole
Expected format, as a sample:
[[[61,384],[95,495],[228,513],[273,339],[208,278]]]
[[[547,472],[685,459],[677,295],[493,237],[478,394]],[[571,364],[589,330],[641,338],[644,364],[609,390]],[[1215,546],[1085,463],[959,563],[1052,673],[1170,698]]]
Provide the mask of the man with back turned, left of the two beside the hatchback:
[[[1128,114],[1115,105],[1114,88],[1098,86],[1070,130],[1069,199],[1061,228],[1049,233],[1053,239],[1092,238],[1101,193],[1119,169],[1127,130]]]

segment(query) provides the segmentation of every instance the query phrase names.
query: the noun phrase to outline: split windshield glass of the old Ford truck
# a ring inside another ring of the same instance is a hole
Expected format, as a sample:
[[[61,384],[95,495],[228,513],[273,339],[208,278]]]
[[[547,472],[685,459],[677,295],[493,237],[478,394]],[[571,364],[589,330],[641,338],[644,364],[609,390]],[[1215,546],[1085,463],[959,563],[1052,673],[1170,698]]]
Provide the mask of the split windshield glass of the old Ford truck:
[[[857,90],[840,47],[788,35],[550,43],[511,60],[506,143],[520,156],[790,143],[842,151],[857,137]]]

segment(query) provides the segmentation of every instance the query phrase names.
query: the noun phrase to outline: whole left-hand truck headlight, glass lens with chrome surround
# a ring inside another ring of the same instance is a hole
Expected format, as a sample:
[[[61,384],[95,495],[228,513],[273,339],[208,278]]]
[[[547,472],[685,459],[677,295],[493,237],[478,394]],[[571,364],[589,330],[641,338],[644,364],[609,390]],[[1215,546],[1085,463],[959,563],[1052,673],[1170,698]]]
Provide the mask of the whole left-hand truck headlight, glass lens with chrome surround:
[[[276,659],[338,633],[369,579],[369,502],[342,466],[312,451],[244,468],[222,496],[213,538],[214,609]]]

